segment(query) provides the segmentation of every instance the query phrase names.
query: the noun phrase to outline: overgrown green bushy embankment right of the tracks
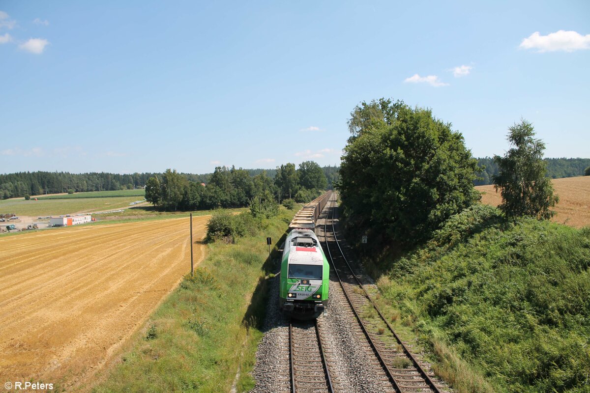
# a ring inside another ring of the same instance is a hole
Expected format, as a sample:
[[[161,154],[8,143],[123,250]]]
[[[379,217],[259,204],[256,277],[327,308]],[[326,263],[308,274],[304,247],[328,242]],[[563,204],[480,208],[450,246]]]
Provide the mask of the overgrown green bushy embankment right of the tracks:
[[[478,205],[377,268],[392,321],[455,391],[590,392],[590,227]]]

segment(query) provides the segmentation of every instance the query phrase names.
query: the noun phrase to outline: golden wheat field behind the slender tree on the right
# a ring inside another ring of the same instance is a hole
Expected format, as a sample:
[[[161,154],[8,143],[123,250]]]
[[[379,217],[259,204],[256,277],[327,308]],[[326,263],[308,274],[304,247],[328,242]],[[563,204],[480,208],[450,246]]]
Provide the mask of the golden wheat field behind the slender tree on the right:
[[[590,225],[590,176],[553,179],[552,182],[559,195],[559,203],[553,208],[557,214],[552,221],[576,228]],[[485,192],[481,196],[483,203],[498,206],[502,202],[494,186],[477,186],[476,190]]]

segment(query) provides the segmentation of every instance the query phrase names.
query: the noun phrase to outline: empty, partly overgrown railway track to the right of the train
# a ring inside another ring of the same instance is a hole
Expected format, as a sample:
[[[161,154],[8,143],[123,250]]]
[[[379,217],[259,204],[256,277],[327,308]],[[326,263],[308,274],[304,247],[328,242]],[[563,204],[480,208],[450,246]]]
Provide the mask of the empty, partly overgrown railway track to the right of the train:
[[[350,308],[352,308],[352,312],[358,320],[360,328],[379,364],[385,371],[389,382],[391,382],[393,389],[399,393],[441,393],[440,388],[432,380],[434,375],[424,369],[424,365],[412,355],[404,342],[395,333],[391,324],[373,302],[371,295],[369,295],[348,260],[346,260],[345,253],[336,236],[334,202],[335,199],[329,201],[329,212],[327,212],[324,223],[324,242],[326,243],[327,257]],[[329,218],[330,213],[332,213],[332,219]],[[332,241],[328,240],[328,222],[330,220],[332,222],[330,232]]]

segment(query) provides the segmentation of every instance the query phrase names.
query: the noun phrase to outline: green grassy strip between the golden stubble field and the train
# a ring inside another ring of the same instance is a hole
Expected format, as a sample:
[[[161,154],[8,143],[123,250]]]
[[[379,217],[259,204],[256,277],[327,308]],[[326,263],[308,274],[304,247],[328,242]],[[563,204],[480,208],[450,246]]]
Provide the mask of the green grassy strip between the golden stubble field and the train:
[[[280,245],[294,213],[281,209],[237,244],[210,243],[194,278],[164,300],[93,391],[227,392],[238,368],[237,391],[251,389],[266,308],[266,237]]]

